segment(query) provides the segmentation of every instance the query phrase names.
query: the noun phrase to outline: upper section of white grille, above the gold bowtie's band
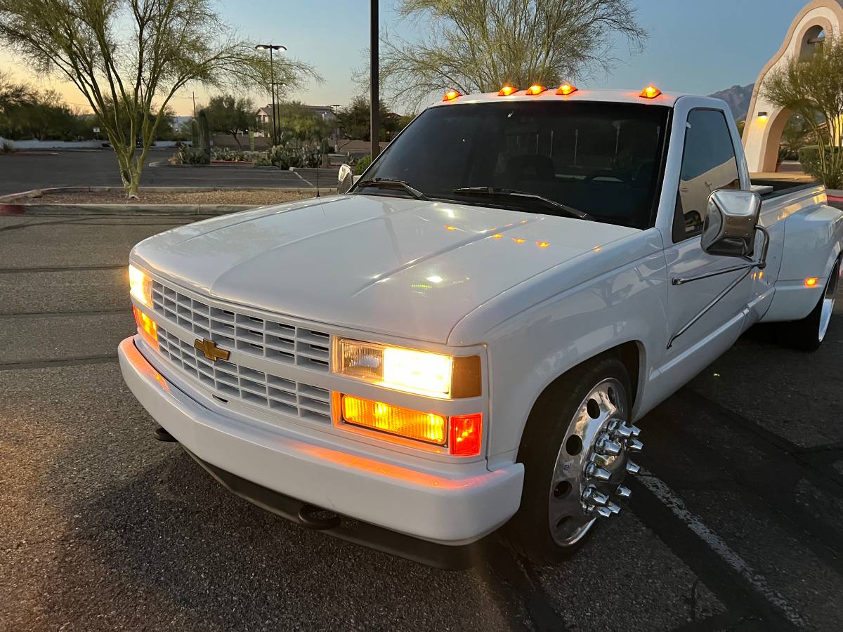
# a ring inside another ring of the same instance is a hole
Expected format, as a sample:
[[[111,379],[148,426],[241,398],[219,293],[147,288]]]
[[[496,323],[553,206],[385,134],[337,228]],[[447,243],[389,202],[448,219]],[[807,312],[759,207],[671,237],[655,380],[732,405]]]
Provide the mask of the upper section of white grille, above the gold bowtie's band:
[[[330,335],[323,331],[215,308],[158,281],[153,281],[153,309],[223,349],[328,372]]]

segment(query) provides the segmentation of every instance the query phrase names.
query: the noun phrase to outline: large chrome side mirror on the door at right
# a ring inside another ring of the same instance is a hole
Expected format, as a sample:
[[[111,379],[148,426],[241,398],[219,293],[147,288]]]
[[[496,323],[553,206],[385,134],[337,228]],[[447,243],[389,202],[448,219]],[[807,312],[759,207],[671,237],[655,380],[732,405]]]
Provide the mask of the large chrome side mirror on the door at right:
[[[708,196],[702,225],[702,249],[708,254],[752,257],[761,196],[751,191],[722,189]]]

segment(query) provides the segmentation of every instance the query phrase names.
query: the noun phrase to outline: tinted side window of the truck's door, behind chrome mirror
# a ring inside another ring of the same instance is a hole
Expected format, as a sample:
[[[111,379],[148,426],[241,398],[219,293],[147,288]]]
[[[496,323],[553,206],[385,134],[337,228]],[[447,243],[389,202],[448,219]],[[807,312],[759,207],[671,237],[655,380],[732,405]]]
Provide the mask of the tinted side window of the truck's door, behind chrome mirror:
[[[674,214],[674,243],[702,232],[712,191],[740,189],[738,160],[723,113],[692,110],[688,125]]]

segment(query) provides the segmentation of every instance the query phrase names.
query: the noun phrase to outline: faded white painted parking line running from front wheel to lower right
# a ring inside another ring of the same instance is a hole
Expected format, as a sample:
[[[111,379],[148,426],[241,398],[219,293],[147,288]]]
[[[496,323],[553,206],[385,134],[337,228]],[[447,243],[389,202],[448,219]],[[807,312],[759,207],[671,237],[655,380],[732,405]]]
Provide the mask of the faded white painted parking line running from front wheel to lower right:
[[[798,613],[796,608],[793,608],[787,603],[787,599],[776,592],[767,583],[764,576],[754,570],[744,558],[730,549],[729,545],[717,533],[711,531],[699,517],[691,513],[685,506],[685,502],[662,479],[659,479],[658,476],[653,475],[652,472],[648,472],[644,468],[641,469],[641,476],[637,477],[637,479],[648,490],[652,491],[658,500],[662,501],[665,506],[668,506],[668,509],[673,511],[679,520],[685,522],[688,528],[696,533],[697,537],[705,542],[721,560],[730,565],[734,570],[737,570],[746,581],[749,581],[755,591],[760,592],[768,602],[778,608],[788,621],[797,628],[808,628],[808,624],[805,623],[803,616]]]

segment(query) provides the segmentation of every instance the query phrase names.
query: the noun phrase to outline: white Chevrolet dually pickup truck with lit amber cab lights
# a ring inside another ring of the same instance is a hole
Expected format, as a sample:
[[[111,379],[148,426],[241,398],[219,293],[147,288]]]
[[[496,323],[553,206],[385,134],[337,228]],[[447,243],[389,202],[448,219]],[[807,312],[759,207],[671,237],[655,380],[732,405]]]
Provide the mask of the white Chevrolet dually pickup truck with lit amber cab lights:
[[[119,353],[158,438],[359,544],[460,566],[508,522],[570,554],[636,420],[751,325],[830,322],[843,212],[750,181],[717,99],[452,92],[341,177],[137,244]]]

